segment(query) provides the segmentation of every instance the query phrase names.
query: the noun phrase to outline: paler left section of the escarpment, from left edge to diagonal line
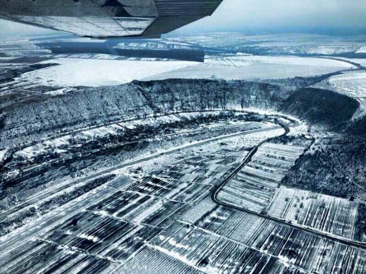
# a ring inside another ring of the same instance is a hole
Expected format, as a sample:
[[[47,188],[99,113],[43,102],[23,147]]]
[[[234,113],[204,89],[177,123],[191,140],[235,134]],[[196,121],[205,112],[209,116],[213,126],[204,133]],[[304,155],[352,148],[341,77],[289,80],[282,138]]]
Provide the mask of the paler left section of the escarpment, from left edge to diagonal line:
[[[23,100],[2,110],[3,146],[17,146],[71,130],[152,114],[133,86],[84,88],[77,92]]]

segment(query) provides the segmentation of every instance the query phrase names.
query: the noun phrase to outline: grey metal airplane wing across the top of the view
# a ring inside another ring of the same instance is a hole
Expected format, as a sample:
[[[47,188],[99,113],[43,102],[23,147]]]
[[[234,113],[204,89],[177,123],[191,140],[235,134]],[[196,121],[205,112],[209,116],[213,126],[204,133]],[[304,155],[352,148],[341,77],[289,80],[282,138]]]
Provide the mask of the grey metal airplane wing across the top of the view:
[[[0,18],[85,37],[160,37],[223,0],[0,0]]]

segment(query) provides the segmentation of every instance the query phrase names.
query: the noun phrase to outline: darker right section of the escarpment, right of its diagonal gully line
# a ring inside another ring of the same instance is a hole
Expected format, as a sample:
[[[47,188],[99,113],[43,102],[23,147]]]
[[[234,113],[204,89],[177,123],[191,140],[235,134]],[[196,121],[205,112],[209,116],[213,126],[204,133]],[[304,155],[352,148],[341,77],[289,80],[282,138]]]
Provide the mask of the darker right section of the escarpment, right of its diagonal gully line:
[[[133,82],[156,112],[206,109],[276,109],[285,86],[247,81],[170,79]]]

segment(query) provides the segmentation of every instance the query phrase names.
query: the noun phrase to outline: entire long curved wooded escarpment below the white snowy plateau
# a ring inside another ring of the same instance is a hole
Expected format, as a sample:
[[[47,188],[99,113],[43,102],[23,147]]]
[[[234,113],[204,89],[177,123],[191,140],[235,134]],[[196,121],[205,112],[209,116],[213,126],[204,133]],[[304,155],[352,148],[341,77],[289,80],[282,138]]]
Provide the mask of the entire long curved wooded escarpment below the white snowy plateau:
[[[273,109],[286,96],[278,85],[243,81],[166,80],[82,88],[6,107],[2,147],[72,130],[175,111],[256,107]]]

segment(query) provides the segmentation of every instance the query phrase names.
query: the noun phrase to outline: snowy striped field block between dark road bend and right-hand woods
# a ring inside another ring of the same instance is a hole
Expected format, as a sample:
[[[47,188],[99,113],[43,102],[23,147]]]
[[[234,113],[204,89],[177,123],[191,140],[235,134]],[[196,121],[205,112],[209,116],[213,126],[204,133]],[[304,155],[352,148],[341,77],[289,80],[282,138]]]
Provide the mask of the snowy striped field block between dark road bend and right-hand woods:
[[[305,147],[264,143],[218,193],[224,203],[261,212],[270,205],[279,184]]]

